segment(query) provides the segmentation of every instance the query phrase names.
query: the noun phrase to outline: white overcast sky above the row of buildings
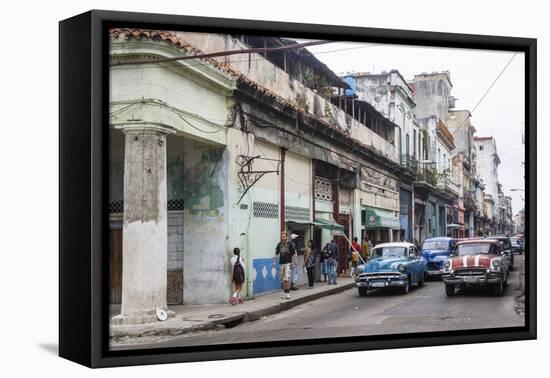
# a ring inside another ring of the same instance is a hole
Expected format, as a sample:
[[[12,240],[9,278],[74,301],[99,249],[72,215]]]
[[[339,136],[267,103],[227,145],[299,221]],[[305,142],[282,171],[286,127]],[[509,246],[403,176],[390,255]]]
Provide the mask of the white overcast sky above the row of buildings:
[[[449,71],[455,109],[472,111],[514,52],[335,42],[308,50],[337,74],[381,73],[397,69],[406,80],[423,72]],[[524,54],[516,53],[504,73],[472,113],[476,136],[493,136],[501,160],[499,181],[512,196],[514,214],[523,208],[525,148]]]

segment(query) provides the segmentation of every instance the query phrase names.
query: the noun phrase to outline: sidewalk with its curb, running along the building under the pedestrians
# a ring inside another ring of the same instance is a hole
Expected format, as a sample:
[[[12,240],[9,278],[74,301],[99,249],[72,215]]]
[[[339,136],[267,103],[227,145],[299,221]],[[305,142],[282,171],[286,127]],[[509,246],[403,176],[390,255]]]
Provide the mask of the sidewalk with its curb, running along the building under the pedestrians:
[[[337,285],[316,282],[313,289],[308,289],[307,285],[299,286],[299,290],[290,292],[291,299],[282,299],[281,290],[245,300],[244,304],[236,306],[230,305],[229,302],[216,305],[169,306],[169,310],[175,313],[174,317],[164,322],[111,325],[109,336],[111,342],[116,343],[122,338],[177,336],[196,331],[231,328],[239,323],[252,322],[327,295],[340,293],[353,288],[354,285],[353,278],[338,277]],[[119,306],[112,306],[111,317],[118,313]]]

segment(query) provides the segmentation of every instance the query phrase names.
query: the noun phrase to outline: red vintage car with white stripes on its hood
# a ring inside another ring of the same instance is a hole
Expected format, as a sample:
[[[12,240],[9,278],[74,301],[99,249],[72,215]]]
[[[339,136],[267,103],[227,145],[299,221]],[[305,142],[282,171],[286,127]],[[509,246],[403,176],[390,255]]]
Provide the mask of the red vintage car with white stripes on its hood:
[[[492,287],[501,296],[508,282],[507,256],[498,240],[478,239],[459,242],[443,264],[447,296],[461,287]]]

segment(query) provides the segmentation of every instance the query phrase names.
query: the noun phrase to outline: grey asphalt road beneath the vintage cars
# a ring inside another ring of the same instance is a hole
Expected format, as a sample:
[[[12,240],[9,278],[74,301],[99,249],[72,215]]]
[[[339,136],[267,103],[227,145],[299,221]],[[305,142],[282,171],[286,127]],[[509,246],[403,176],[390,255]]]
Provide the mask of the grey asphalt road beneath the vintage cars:
[[[461,290],[445,295],[444,284],[428,281],[409,294],[376,291],[359,297],[352,289],[297,306],[277,315],[234,328],[150,339],[136,348],[245,343],[407,332],[446,331],[475,328],[523,326],[524,317],[515,311],[519,294],[519,267],[516,256],[502,297],[491,290]],[[116,349],[116,348],[115,348]],[[132,349],[125,345],[124,349]]]

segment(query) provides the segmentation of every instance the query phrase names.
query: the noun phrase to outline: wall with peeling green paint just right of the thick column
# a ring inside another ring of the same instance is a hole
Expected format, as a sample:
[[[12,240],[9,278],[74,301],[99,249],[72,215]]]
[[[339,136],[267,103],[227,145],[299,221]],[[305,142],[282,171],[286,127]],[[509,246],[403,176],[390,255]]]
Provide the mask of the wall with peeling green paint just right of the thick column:
[[[184,264],[186,304],[227,300],[227,152],[184,139]]]

